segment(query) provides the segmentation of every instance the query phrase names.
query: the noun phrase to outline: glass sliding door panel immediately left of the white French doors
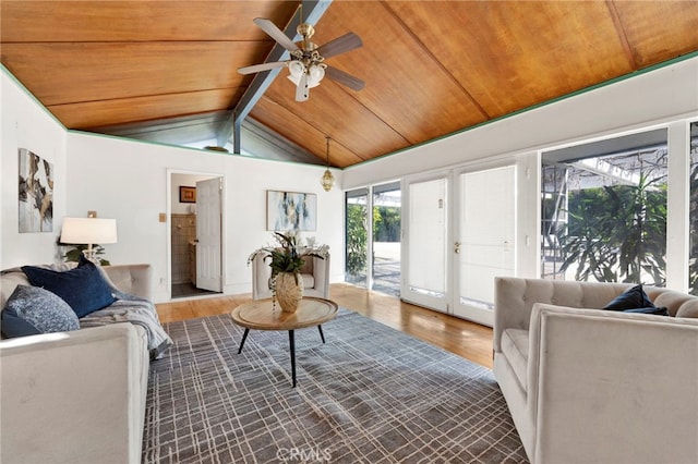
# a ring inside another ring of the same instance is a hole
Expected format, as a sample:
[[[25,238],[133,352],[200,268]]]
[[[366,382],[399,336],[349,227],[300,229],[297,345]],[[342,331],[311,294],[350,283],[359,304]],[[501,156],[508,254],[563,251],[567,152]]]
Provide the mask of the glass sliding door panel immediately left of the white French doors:
[[[372,290],[400,295],[400,183],[376,185],[373,192]]]

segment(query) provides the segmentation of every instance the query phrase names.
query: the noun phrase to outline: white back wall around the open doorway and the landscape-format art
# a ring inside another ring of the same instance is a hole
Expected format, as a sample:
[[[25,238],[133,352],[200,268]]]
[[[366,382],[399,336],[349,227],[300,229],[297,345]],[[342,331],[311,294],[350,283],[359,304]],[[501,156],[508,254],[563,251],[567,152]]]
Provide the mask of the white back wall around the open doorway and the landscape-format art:
[[[171,192],[169,171],[194,171],[203,176],[222,175],[224,181],[224,292],[251,291],[246,265],[252,251],[273,242],[266,231],[266,191],[281,190],[317,194],[315,236],[330,247],[330,281],[344,278],[344,196],[338,187],[325,192],[320,185],[323,167],[260,160],[215,151],[127,141],[69,132],[67,215],[116,218],[119,243],[104,245],[112,264],[151,262],[156,302],[168,298],[169,249],[167,223],[158,215],[167,211]],[[335,172],[340,180],[341,173]]]

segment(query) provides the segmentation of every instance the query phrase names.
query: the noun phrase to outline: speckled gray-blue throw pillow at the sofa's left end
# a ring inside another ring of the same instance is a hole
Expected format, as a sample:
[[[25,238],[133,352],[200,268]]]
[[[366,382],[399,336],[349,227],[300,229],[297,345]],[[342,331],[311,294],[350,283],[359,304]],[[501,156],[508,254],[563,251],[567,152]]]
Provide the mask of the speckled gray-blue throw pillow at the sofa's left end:
[[[17,285],[2,310],[7,338],[80,329],[75,312],[60,296],[38,286]]]

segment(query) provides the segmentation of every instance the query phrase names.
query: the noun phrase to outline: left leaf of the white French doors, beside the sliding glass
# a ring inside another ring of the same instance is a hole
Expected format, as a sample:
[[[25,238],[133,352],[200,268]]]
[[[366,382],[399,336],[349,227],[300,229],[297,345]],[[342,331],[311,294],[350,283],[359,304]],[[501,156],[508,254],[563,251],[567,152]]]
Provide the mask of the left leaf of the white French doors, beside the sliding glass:
[[[448,310],[448,179],[406,183],[402,300]]]

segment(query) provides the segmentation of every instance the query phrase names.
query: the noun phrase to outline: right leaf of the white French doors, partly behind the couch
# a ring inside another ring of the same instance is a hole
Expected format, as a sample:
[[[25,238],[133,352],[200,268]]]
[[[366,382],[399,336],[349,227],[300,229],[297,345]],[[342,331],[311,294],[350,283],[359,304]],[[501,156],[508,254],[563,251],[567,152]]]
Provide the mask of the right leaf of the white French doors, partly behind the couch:
[[[516,269],[516,168],[458,175],[454,315],[492,327],[494,278]]]

